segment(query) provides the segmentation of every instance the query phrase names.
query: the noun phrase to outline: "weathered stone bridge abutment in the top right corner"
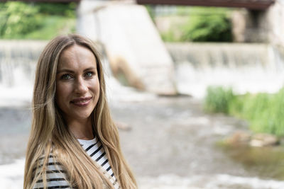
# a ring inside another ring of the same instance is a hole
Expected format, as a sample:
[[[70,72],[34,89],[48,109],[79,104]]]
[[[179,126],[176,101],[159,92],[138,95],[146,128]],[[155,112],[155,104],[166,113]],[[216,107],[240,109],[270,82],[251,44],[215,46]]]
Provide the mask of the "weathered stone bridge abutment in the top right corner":
[[[283,0],[275,0],[266,11],[236,10],[231,19],[235,42],[268,42],[284,47]]]

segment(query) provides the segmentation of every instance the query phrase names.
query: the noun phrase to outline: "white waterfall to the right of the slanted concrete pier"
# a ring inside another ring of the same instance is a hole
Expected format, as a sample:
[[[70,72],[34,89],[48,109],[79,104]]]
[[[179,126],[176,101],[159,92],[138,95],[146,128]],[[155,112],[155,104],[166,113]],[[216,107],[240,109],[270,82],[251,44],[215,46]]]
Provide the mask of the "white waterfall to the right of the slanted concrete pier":
[[[180,93],[204,97],[207,86],[236,93],[275,93],[284,81],[283,52],[267,44],[169,43]]]

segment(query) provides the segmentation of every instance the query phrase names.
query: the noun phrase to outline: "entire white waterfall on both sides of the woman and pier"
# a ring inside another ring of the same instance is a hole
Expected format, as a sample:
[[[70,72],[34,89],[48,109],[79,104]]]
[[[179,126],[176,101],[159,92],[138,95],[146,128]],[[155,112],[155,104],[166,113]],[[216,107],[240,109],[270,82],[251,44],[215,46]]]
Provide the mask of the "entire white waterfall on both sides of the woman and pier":
[[[46,44],[47,41],[0,40],[0,105],[31,102],[35,64]],[[175,84],[180,93],[202,98],[210,85],[231,86],[237,93],[274,93],[283,86],[284,52],[279,47],[229,43],[166,46],[175,62]],[[102,48],[99,51],[110,98],[137,99],[135,92],[126,97],[132,89],[124,90],[113,78]]]

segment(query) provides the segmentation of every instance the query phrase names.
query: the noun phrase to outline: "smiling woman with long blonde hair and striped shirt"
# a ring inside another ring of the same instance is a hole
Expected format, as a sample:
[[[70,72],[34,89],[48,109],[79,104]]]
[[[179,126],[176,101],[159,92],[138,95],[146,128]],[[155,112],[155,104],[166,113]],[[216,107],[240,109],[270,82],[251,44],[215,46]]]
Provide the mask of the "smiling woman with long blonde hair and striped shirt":
[[[24,188],[136,188],[92,42],[51,40],[38,60]]]

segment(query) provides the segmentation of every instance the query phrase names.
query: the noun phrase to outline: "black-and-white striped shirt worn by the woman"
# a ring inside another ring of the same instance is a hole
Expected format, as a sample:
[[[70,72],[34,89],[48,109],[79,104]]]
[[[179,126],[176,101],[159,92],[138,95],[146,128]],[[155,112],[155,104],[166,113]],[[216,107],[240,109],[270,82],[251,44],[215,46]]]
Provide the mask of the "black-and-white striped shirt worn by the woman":
[[[114,172],[111,170],[111,166],[109,165],[109,160],[107,159],[107,154],[104,151],[104,147],[102,143],[94,137],[92,140],[82,140],[78,139],[84,151],[94,160],[97,161],[97,164],[102,166],[104,169],[104,174],[109,178],[109,181],[114,185],[115,189],[119,189],[119,183],[116,182],[116,178],[114,176]],[[37,175],[40,171],[40,168],[37,169],[35,175]],[[53,160],[53,156],[50,155],[48,159],[48,171],[47,171],[47,186],[48,189],[53,188],[67,188],[71,189],[70,183],[68,182],[66,171],[64,168]],[[43,188],[43,180],[40,179],[35,183],[33,189]]]

